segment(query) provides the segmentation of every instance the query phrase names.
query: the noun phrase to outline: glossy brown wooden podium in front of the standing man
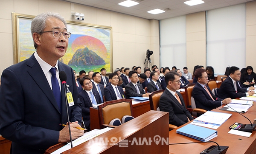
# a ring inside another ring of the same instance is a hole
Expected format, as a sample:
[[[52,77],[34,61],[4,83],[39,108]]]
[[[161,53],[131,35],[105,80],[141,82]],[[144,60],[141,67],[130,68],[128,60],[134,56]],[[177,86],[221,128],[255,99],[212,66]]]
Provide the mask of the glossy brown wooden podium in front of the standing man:
[[[151,110],[61,154],[168,154],[168,133],[169,113]],[[164,138],[166,143],[162,144],[160,141],[156,144],[154,142],[156,135],[159,135],[161,140]],[[118,138],[118,141],[110,145],[112,137]],[[104,139],[104,142],[96,142],[101,139]],[[105,144],[106,139],[109,141],[107,144]],[[148,143],[150,140],[152,142],[151,145],[145,143],[136,145],[135,142],[131,145],[134,139],[138,141],[138,144],[145,139]],[[93,143],[92,140],[95,142]],[[122,142],[128,145],[121,144]],[[52,151],[46,151],[47,154],[49,152]]]

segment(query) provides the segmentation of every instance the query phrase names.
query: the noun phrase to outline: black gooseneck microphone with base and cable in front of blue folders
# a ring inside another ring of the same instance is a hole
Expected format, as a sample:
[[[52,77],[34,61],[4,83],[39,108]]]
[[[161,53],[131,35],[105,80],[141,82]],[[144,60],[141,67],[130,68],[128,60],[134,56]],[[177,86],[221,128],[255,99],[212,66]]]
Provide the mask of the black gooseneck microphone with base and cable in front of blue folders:
[[[217,146],[210,146],[206,148],[204,151],[200,152],[200,154],[225,154],[229,146],[219,146],[217,142],[207,141],[207,142],[187,142],[187,143],[172,143],[169,145],[177,145],[177,144],[192,144],[192,143],[215,143]]]

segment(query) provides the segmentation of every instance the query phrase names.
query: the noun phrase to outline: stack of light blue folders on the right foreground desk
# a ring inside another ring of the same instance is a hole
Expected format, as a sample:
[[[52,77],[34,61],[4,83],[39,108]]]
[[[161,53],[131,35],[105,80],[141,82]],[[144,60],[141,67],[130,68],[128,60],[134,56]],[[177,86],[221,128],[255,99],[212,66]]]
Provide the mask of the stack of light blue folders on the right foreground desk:
[[[177,129],[176,131],[178,134],[182,134],[196,140],[200,140],[203,142],[212,140],[213,138],[217,137],[217,131],[212,129],[207,129],[201,126],[195,126],[192,124],[187,124],[186,126]]]

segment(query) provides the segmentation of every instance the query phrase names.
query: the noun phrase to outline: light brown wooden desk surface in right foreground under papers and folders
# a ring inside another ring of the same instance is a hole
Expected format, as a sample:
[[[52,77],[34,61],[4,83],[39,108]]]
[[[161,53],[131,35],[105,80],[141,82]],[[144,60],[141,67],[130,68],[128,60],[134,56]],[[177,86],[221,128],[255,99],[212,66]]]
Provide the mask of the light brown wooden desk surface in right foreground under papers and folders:
[[[220,146],[229,146],[226,154],[256,154],[256,131],[253,131],[250,137],[243,137],[234,134],[228,134],[230,131],[229,127],[233,123],[243,123],[247,124],[249,121],[243,116],[236,112],[228,112],[219,110],[223,106],[213,109],[212,111],[231,113],[231,117],[223,123],[218,129],[218,137],[212,139],[211,141],[217,142]],[[256,118],[256,104],[252,106],[248,112],[243,115],[253,120]],[[182,125],[185,126],[188,123]],[[180,127],[182,127],[180,126]],[[179,129],[178,127],[177,129]],[[192,139],[190,137],[177,134],[174,129],[169,132],[169,143],[187,143],[187,142],[198,142],[198,140]],[[169,145],[169,154],[199,154],[206,148],[215,145],[215,143],[194,143],[194,144],[183,144],[183,145]]]

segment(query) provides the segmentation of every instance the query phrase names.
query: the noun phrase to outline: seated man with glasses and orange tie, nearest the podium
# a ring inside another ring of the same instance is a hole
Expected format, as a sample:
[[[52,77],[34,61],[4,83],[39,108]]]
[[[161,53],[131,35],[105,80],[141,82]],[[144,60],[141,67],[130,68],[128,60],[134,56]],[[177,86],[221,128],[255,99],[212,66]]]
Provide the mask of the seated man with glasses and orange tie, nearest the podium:
[[[186,105],[180,92],[180,75],[177,72],[169,72],[165,76],[167,88],[163,92],[159,101],[160,111],[169,112],[169,124],[181,126],[193,120],[191,114],[186,109]]]

